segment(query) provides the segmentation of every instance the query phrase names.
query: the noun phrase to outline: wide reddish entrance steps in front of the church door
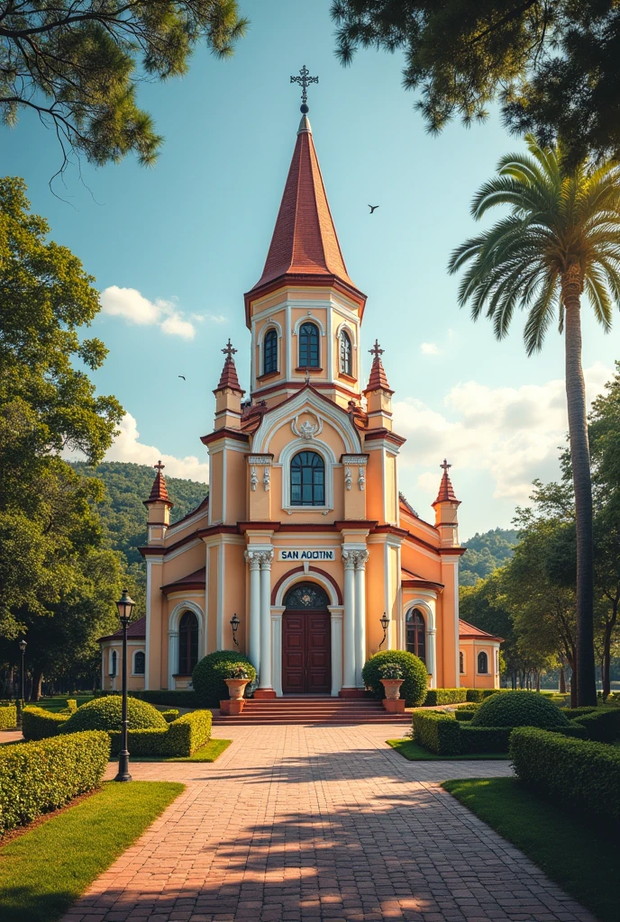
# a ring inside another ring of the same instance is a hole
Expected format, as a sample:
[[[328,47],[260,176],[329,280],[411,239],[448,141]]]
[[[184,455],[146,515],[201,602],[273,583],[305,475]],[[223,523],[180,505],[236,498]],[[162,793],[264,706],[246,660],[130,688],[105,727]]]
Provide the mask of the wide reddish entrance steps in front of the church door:
[[[213,726],[224,725],[411,725],[411,713],[388,714],[383,704],[373,698],[331,698],[328,695],[299,695],[255,701],[249,699],[239,715],[221,715],[213,711]]]

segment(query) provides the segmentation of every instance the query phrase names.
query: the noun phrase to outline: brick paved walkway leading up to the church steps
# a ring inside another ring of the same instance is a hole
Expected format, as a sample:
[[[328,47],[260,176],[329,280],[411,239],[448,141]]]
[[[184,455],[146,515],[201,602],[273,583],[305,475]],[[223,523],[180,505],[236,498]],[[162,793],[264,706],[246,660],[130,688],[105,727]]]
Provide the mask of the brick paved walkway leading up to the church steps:
[[[65,922],[594,922],[438,786],[507,762],[407,762],[386,726],[225,729],[212,765],[132,766],[185,793]]]

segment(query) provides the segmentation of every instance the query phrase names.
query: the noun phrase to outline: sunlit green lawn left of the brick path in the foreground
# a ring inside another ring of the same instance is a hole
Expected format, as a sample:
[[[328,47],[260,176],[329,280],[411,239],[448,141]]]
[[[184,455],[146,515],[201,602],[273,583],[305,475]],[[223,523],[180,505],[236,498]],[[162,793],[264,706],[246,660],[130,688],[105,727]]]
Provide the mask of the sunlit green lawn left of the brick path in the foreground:
[[[54,922],[183,791],[107,782],[92,797],[0,847],[2,922]]]

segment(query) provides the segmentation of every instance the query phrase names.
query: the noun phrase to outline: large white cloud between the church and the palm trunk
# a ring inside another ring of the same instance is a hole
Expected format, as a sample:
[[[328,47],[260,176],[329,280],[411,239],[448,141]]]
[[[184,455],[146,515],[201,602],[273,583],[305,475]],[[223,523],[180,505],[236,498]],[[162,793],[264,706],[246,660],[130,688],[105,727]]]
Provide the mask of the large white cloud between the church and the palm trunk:
[[[589,403],[613,376],[596,362],[586,369]],[[558,446],[566,444],[566,392],[562,379],[521,387],[489,387],[468,381],[444,398],[444,411],[408,397],[394,404],[394,428],[406,436],[401,466],[432,502],[439,483],[437,465],[447,457],[467,479],[483,470],[494,498],[524,503],[534,478],[558,476]],[[414,497],[410,497],[415,505]],[[417,501],[423,505],[422,497]]]

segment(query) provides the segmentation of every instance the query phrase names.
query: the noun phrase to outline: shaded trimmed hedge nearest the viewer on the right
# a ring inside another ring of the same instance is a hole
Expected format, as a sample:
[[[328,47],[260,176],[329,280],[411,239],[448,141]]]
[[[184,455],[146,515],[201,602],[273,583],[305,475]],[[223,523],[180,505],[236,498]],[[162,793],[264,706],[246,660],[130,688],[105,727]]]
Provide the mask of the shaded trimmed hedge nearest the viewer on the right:
[[[519,780],[544,796],[620,821],[620,751],[613,746],[519,727],[510,756]]]

